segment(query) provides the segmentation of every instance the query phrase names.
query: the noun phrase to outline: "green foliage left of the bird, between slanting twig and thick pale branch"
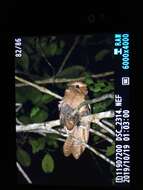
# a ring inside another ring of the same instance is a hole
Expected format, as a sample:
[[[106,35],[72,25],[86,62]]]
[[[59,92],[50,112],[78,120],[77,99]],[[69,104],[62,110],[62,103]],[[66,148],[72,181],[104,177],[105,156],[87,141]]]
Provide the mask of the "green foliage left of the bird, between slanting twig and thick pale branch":
[[[18,119],[24,124],[39,123],[48,119],[48,103],[55,98],[43,94],[29,86],[16,89],[16,102],[23,103],[23,108],[17,114]]]

